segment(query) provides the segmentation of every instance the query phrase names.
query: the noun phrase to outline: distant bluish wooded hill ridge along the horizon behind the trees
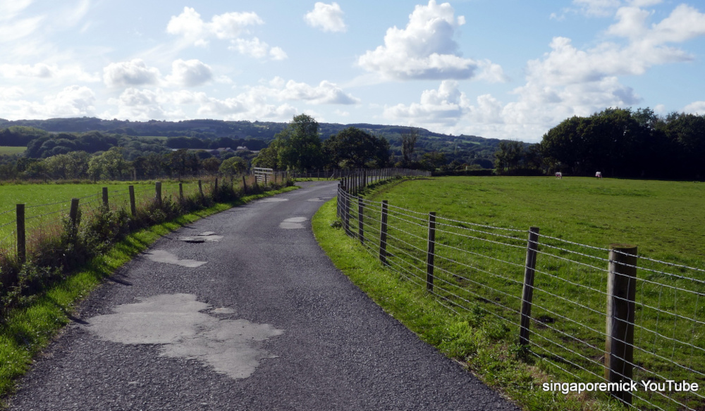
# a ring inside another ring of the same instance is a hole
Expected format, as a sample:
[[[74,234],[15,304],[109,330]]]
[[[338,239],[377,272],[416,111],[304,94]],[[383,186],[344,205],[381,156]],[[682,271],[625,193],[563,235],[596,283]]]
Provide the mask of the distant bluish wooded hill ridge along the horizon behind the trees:
[[[102,135],[129,136],[129,137],[171,137],[164,139],[161,144],[168,148],[211,148],[213,144],[225,143],[226,139],[243,142],[250,141],[251,150],[262,148],[274,139],[274,135],[281,132],[288,123],[286,122],[250,122],[250,121],[223,121],[223,120],[183,120],[178,122],[149,120],[135,122],[128,120],[101,120],[99,118],[51,118],[49,120],[4,120],[0,119],[0,145],[2,146],[27,146],[32,139],[44,137],[47,134],[75,133],[87,134],[99,132]],[[455,165],[476,165],[484,168],[493,167],[494,153],[498,150],[500,140],[485,139],[477,136],[452,136],[430,132],[418,127],[350,124],[319,123],[321,139],[327,139],[347,127],[357,127],[371,134],[386,138],[394,156],[401,156],[401,134],[415,128],[418,140],[415,147],[415,156],[437,151],[446,156],[448,163]],[[30,129],[42,130],[37,135],[32,135]],[[11,130],[13,132],[11,132]],[[95,136],[94,136],[95,137]],[[184,139],[183,137],[189,137]],[[195,139],[203,140],[202,142]],[[220,141],[217,141],[219,140]],[[118,141],[125,139],[114,139]],[[159,144],[157,141],[150,141]],[[233,147],[235,148],[235,147]],[[54,151],[57,151],[56,149]],[[58,151],[57,151],[58,152]],[[42,151],[28,151],[27,156],[47,156]]]

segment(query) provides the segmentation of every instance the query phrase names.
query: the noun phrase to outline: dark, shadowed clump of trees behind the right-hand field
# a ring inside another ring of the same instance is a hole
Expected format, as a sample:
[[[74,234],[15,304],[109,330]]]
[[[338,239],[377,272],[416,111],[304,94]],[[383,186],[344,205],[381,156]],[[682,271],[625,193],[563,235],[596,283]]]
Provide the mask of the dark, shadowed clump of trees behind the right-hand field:
[[[649,179],[705,179],[705,115],[606,108],[573,116],[538,144],[503,141],[496,170]]]

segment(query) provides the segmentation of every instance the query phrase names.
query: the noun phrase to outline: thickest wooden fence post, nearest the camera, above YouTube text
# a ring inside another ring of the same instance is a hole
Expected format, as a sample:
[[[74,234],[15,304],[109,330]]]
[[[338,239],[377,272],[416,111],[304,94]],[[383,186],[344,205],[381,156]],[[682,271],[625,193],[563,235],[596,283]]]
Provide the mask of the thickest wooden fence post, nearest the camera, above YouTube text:
[[[605,379],[608,382],[632,381],[636,283],[637,247],[611,244],[605,340]],[[611,394],[624,403],[632,403],[631,391],[611,391]]]

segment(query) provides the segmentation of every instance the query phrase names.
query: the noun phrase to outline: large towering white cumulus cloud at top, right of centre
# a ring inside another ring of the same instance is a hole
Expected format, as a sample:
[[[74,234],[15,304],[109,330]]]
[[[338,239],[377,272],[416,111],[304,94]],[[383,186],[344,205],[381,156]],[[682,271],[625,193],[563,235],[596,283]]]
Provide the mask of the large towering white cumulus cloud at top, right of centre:
[[[477,62],[458,55],[453,39],[465,18],[455,18],[448,3],[416,6],[405,29],[391,27],[384,46],[367,51],[357,64],[392,79],[461,80],[475,75]]]

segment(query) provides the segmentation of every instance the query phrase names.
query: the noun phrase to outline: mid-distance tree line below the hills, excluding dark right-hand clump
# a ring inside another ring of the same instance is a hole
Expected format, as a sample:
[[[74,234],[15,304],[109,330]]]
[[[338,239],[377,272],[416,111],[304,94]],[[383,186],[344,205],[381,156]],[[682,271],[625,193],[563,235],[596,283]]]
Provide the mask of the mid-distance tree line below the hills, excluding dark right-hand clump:
[[[319,123],[305,114],[295,116],[269,144],[252,138],[49,133],[15,125],[0,130],[0,145],[25,143],[27,149],[21,156],[0,156],[0,179],[181,178],[233,175],[252,165],[307,171],[388,166],[438,170],[462,164],[459,160],[449,163],[444,153],[419,153],[419,129],[405,127],[400,131],[396,155],[385,137],[357,127],[321,139]],[[219,150],[214,152],[215,148]],[[484,165],[491,166],[491,160],[485,159]]]

